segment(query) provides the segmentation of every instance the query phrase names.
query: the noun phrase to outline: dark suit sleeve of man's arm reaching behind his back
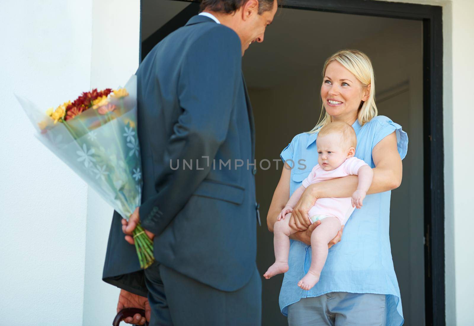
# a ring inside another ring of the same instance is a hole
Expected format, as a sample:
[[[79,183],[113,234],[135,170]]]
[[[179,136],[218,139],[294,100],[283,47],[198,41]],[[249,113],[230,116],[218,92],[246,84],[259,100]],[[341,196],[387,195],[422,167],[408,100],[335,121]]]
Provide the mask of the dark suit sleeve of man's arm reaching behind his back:
[[[155,235],[163,232],[210,172],[208,162],[226,139],[238,83],[243,82],[241,64],[239,37],[221,25],[187,49],[178,81],[182,112],[164,149],[164,170],[155,179],[157,194],[140,206],[142,226]],[[192,162],[193,168],[171,168],[170,162],[183,160]]]

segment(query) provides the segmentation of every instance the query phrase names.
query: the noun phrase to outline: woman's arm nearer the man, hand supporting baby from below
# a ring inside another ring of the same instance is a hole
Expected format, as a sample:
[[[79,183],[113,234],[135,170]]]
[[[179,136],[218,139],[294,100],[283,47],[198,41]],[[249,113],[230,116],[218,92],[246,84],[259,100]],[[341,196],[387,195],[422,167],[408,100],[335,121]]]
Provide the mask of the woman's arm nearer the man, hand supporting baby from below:
[[[291,168],[290,166],[285,163],[285,167],[282,171],[282,176],[280,177],[280,181],[278,181],[278,185],[276,186],[275,192],[273,193],[272,203],[270,204],[270,208],[268,209],[267,214],[267,227],[270,232],[273,232],[273,225],[278,219],[278,214],[282,211],[285,207],[288,199],[290,197],[290,177],[291,177]],[[292,234],[290,237],[294,240],[299,240],[305,244],[311,244],[311,232],[321,224],[321,221],[316,221],[306,231],[296,232]],[[342,229],[337,233],[336,237],[329,242],[328,247],[330,248],[333,244],[337,244],[341,241],[342,237]]]

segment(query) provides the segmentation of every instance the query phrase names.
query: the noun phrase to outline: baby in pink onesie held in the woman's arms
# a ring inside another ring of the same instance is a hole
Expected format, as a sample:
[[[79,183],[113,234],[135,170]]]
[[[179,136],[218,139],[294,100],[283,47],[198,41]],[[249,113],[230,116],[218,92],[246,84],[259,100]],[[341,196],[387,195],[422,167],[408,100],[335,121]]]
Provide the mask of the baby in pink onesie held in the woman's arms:
[[[352,194],[352,198],[317,199],[308,212],[310,220],[300,221],[301,225],[310,225],[321,220],[321,224],[311,233],[311,265],[308,273],[298,282],[298,286],[303,290],[310,290],[319,281],[319,275],[328,256],[328,243],[337,235],[354,209],[361,208],[374,176],[367,163],[354,157],[356,145],[356,132],[345,122],[332,122],[319,130],[316,139],[318,164],[303,180],[300,188],[293,192],[273,227],[275,263],[264,274],[266,279],[288,271],[289,236],[301,230],[294,225],[293,215],[290,218],[285,218],[285,215],[292,212],[306,187],[324,180],[350,174],[358,175],[357,190]]]

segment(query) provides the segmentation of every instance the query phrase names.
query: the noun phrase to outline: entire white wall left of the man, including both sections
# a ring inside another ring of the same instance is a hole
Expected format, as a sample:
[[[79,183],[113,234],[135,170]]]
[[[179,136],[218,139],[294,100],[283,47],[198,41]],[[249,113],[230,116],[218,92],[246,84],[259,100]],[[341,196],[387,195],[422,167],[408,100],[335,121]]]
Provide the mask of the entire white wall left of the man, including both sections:
[[[109,325],[118,289],[101,275],[113,210],[34,138],[13,93],[46,110],[123,86],[138,67],[140,2],[9,0],[0,19],[1,324]]]

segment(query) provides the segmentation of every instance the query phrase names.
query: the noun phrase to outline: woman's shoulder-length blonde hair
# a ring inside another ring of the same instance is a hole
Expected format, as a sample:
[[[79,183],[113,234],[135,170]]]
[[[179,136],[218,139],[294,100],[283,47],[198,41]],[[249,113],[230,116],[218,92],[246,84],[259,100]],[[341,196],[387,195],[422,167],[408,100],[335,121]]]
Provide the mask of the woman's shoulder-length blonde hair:
[[[361,101],[361,106],[358,109],[357,120],[359,124],[364,126],[364,124],[370,119],[377,116],[377,106],[375,105],[375,78],[374,78],[374,68],[372,67],[372,62],[369,57],[359,51],[359,50],[339,50],[335,54],[331,55],[323,67],[323,78],[326,74],[326,68],[328,64],[337,61],[342,64],[349,72],[356,76],[357,80],[362,84],[362,88],[365,89],[370,84],[370,93],[369,98],[364,102]],[[323,118],[323,112],[324,118]],[[319,116],[319,121],[314,128],[312,128],[308,133],[314,134],[322,127],[331,123],[331,116],[326,112],[324,108],[324,103],[321,107],[321,114]]]

